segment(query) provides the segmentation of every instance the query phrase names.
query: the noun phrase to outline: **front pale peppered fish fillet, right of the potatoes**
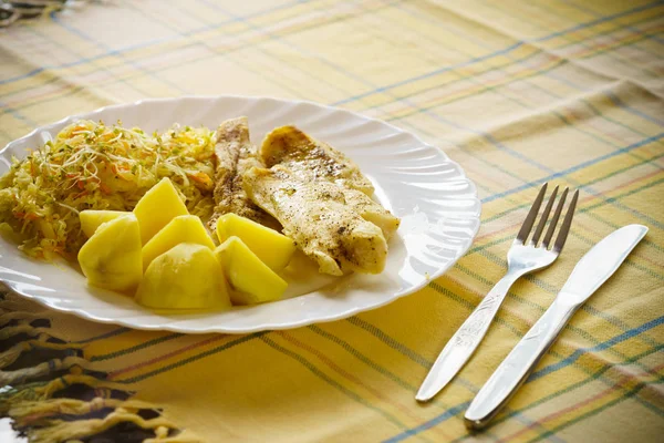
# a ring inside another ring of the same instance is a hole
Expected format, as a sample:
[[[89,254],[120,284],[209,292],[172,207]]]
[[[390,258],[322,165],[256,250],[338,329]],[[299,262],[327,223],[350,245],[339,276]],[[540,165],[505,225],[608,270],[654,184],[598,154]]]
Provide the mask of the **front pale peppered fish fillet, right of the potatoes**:
[[[360,192],[324,179],[302,179],[282,165],[251,168],[243,186],[257,205],[281,223],[283,234],[318,262],[321,272],[341,276],[384,269],[387,241],[383,230],[362,216],[359,205],[349,203],[353,199],[349,195]]]

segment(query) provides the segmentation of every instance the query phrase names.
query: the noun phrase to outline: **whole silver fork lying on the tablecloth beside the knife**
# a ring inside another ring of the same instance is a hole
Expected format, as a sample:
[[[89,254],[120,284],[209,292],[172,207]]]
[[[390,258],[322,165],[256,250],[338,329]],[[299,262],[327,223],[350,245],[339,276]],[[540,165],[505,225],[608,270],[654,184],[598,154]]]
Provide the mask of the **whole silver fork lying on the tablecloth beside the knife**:
[[[515,281],[526,274],[548,267],[558,258],[570,231],[574,208],[577,207],[577,200],[579,199],[579,190],[577,190],[568,207],[564,219],[562,220],[558,237],[556,237],[556,243],[551,249],[549,249],[568,192],[569,188],[564,188],[562,192],[556,212],[553,213],[553,218],[547,229],[547,234],[544,235],[542,243],[538,245],[541,235],[544,231],[553,203],[556,202],[556,195],[558,194],[558,186],[556,186],[553,194],[551,194],[551,197],[542,212],[542,216],[535,229],[535,234],[527,243],[526,240],[535,225],[535,219],[537,218],[544,194],[547,193],[547,184],[544,183],[542,185],[530,212],[521,225],[521,229],[519,229],[519,234],[517,234],[517,238],[507,253],[507,274],[496,284],[496,286],[494,286],[477,308],[475,308],[473,313],[470,313],[470,317],[464,321],[464,324],[461,324],[456,333],[449,339],[445,349],[443,349],[443,352],[440,352],[440,356],[436,359],[429,373],[426,375],[415,399],[418,401],[430,400],[445,388],[445,385],[447,385],[447,383],[449,383],[464,367],[487,333],[494,317],[496,317],[496,312],[498,312],[502,300],[505,300],[509,288]]]

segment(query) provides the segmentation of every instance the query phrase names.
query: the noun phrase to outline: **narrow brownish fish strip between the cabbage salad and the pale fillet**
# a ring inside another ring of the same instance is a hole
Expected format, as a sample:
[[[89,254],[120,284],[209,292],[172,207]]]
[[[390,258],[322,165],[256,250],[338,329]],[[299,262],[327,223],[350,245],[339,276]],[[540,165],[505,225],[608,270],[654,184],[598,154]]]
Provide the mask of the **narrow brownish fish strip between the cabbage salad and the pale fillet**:
[[[277,220],[251,202],[242,187],[245,172],[253,166],[263,166],[257,156],[257,147],[249,140],[247,117],[221,123],[217,128],[216,138],[215,213],[208,224],[210,229],[214,230],[217,219],[228,213],[278,229]]]

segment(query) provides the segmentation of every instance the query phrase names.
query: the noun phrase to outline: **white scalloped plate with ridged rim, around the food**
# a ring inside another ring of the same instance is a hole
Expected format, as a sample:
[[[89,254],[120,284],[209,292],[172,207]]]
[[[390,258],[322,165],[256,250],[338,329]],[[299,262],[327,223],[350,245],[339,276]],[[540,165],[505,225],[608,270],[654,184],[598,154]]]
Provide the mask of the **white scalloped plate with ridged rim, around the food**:
[[[55,135],[77,119],[107,123],[120,120],[124,125],[152,132],[166,130],[175,122],[216,127],[239,115],[249,117],[255,143],[273,127],[295,124],[360,165],[376,187],[375,197],[402,218],[382,275],[350,276],[324,286],[329,279],[313,272],[300,281],[304,286],[293,285],[295,291],[309,292],[300,297],[225,312],[165,316],[127,297],[90,288],[73,267],[32,260],[15,245],[0,239],[0,280],[48,307],[94,321],[137,329],[239,333],[338,320],[377,308],[421,289],[470,247],[479,228],[480,203],[459,165],[395,126],[308,102],[216,96],[107,106],[40,127],[10,143],[0,152],[0,175],[8,171],[12,155],[21,158],[27,155],[25,148],[40,146],[43,132]]]

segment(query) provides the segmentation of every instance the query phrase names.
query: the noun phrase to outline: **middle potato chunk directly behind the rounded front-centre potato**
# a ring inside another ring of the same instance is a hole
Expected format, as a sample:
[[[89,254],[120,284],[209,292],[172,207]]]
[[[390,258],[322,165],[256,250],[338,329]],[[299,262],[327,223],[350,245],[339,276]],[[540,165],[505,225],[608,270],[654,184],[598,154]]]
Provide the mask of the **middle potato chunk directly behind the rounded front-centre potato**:
[[[180,243],[195,243],[215,249],[203,222],[195,215],[180,215],[159,230],[143,247],[143,268],[147,269],[152,260]]]

